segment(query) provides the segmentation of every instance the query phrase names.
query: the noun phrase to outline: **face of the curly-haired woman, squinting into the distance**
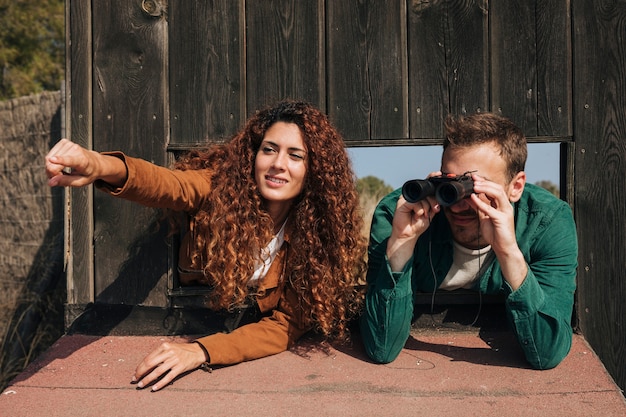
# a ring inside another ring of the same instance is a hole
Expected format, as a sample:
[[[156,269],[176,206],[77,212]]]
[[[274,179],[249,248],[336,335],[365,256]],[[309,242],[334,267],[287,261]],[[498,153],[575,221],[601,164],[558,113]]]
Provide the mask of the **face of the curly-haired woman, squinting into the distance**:
[[[307,151],[294,123],[276,122],[265,132],[254,177],[270,212],[289,209],[304,186]]]

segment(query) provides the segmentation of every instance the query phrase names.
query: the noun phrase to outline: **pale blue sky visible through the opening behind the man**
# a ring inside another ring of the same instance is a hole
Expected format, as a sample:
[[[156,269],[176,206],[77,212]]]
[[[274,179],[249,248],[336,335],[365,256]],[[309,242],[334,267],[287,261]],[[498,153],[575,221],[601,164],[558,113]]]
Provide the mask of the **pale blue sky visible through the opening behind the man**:
[[[384,148],[348,148],[358,178],[376,176],[394,188],[405,181],[425,178],[437,171],[441,146],[396,146]],[[526,177],[530,183],[548,180],[559,184],[559,144],[528,145]]]

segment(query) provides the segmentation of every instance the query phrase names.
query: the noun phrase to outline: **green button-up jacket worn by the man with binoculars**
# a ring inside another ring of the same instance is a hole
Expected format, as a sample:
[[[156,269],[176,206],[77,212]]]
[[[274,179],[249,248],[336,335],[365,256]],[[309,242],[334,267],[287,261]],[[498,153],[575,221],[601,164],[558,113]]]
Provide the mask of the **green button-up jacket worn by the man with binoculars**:
[[[446,217],[440,213],[420,236],[404,270],[391,272],[386,248],[400,194],[400,189],[395,190],[379,203],[370,232],[361,334],[368,355],[380,363],[393,361],[409,337],[414,294],[433,291],[433,270],[439,287],[452,265],[452,235]],[[536,369],[553,368],[567,355],[572,343],[578,262],[576,226],[567,203],[532,184],[526,184],[514,208],[515,234],[529,267],[528,275],[512,291],[492,256],[475,287],[483,294],[506,296],[507,315],[527,361]]]

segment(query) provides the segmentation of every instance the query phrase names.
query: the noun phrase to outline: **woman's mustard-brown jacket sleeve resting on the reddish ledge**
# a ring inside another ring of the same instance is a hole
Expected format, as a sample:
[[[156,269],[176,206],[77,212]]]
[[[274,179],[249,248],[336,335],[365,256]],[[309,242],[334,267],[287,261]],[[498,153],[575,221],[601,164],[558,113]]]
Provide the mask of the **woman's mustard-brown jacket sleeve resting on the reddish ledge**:
[[[287,284],[270,316],[231,333],[202,337],[198,342],[206,348],[212,365],[233,365],[283,352],[308,330],[298,297]]]

